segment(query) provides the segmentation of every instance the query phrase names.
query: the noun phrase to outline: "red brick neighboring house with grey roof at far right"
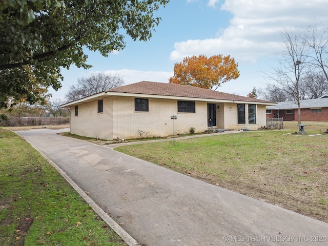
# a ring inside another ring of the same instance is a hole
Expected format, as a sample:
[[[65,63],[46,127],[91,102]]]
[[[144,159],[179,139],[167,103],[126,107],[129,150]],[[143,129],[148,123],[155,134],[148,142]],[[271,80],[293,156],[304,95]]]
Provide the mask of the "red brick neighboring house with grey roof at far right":
[[[275,106],[267,106],[267,118],[298,121],[297,101],[283,101]],[[301,120],[328,121],[328,95],[317,99],[301,100]]]

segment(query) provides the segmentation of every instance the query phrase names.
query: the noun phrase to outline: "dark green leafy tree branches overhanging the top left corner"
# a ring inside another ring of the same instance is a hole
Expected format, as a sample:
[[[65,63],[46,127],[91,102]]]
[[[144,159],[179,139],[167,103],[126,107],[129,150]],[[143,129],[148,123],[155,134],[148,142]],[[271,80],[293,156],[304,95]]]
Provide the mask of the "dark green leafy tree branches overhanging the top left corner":
[[[125,47],[125,33],[148,40],[169,0],[0,1],[0,108],[24,98],[44,100],[38,88],[60,88],[61,68],[89,68],[83,49],[107,56]]]

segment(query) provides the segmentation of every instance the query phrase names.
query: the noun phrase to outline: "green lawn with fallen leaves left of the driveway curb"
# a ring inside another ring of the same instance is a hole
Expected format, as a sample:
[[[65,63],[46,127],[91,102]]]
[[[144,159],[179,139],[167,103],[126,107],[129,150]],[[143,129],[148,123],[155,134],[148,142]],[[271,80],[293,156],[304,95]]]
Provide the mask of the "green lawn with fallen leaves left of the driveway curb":
[[[127,245],[25,140],[0,130],[0,245]]]

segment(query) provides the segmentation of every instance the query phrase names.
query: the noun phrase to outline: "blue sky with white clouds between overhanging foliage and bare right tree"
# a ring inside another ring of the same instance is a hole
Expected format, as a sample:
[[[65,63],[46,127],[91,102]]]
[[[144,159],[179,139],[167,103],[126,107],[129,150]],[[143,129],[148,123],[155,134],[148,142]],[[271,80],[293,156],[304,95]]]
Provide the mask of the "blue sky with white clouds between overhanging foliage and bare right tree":
[[[64,99],[77,79],[90,73],[119,74],[125,84],[142,80],[168,83],[174,64],[192,55],[230,55],[240,76],[218,91],[247,96],[270,82],[265,73],[282,50],[279,31],[328,22],[328,0],[171,0],[155,13],[162,20],[147,42],[126,37],[126,48],[108,57],[86,50],[88,70],[62,70],[64,81],[52,99]]]

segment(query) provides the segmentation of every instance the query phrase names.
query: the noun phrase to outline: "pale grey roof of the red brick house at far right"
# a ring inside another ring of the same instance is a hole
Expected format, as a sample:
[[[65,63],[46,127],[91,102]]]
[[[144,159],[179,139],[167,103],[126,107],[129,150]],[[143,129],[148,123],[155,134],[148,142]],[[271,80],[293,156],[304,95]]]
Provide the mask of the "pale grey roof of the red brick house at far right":
[[[301,109],[326,108],[328,107],[328,98],[317,98],[301,100]],[[267,106],[267,109],[297,109],[297,101],[282,101],[275,106]]]

